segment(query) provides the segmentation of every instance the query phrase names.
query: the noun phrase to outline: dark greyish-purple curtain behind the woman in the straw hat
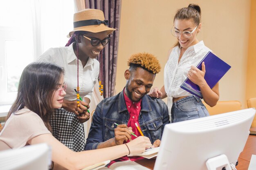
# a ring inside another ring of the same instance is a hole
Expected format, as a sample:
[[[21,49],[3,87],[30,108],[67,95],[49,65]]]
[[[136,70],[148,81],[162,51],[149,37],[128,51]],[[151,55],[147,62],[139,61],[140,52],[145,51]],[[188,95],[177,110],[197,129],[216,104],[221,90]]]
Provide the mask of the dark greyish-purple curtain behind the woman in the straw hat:
[[[108,26],[117,29],[110,34],[110,42],[102,53],[103,71],[101,81],[104,86],[103,97],[111,97],[115,94],[121,0],[85,0],[85,8],[100,9],[103,11],[105,19],[108,20]]]

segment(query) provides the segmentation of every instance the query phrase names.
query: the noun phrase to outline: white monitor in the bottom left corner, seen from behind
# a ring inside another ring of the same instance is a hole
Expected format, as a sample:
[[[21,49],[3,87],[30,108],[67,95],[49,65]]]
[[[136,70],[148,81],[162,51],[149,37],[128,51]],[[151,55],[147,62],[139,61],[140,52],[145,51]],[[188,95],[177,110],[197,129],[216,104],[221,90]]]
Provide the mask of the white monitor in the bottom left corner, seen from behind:
[[[1,170],[49,170],[51,149],[47,144],[25,146],[0,152]]]

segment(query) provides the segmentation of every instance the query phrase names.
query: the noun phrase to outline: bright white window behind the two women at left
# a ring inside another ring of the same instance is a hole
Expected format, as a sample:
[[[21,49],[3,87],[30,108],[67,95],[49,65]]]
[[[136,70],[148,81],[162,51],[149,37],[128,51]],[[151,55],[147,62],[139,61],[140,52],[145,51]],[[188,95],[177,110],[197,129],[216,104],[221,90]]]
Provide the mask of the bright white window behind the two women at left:
[[[0,105],[15,100],[27,64],[51,47],[65,46],[73,14],[73,0],[0,2]]]

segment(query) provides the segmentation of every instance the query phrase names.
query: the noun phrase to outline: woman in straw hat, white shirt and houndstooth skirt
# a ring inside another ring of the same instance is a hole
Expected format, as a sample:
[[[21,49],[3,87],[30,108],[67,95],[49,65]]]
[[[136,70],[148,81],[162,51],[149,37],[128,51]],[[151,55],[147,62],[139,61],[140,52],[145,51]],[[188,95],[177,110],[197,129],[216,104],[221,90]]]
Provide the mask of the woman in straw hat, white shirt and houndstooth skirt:
[[[52,134],[68,148],[81,151],[85,146],[83,122],[90,118],[87,110],[100,71],[95,58],[108,44],[108,35],[116,29],[108,27],[108,20],[98,9],[74,13],[73,24],[66,46],[47,50],[38,61],[52,62],[65,69],[67,95],[62,108],[56,109],[50,120]]]

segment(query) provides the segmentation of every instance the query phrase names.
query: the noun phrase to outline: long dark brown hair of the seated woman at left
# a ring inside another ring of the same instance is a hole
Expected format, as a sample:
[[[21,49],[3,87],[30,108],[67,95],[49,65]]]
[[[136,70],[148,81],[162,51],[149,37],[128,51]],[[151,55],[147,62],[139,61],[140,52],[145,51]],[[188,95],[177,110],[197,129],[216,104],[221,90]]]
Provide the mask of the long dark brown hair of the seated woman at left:
[[[64,69],[56,64],[34,62],[26,66],[20,77],[17,98],[10,108],[7,119],[26,106],[40,116],[51,131],[49,119],[54,112],[52,97],[63,74]]]

